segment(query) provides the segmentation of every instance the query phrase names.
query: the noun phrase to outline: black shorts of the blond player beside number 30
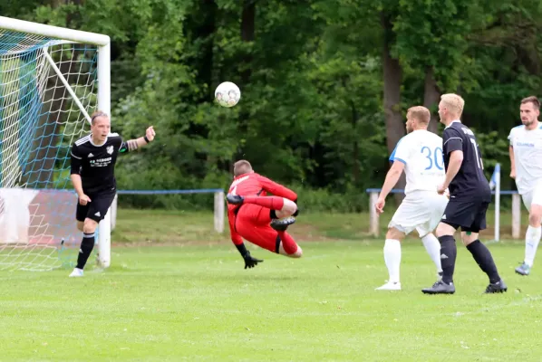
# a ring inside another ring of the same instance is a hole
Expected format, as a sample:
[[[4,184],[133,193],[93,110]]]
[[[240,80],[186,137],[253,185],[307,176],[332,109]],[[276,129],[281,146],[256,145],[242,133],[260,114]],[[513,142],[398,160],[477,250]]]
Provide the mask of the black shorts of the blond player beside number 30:
[[[486,212],[489,202],[476,199],[450,198],[440,222],[462,232],[479,233],[486,228]]]

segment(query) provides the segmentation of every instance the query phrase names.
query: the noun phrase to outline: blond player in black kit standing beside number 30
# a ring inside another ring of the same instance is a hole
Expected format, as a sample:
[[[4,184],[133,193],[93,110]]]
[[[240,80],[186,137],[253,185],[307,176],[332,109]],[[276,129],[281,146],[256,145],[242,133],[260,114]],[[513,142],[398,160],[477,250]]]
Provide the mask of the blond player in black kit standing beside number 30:
[[[479,268],[489,276],[486,293],[507,291],[507,286],[498,275],[491,252],[478,239],[479,231],[486,228],[486,211],[491,202],[491,189],[484,175],[481,154],[474,133],[461,121],[465,101],[457,94],[440,97],[440,122],[446,126],[442,136],[446,178],[437,190],[443,194],[450,190],[450,202],[444,210],[437,236],[440,242],[442,279],[426,294],[453,294],[453,271],[457,247],[453,234],[461,228],[461,240],[472,254]]]

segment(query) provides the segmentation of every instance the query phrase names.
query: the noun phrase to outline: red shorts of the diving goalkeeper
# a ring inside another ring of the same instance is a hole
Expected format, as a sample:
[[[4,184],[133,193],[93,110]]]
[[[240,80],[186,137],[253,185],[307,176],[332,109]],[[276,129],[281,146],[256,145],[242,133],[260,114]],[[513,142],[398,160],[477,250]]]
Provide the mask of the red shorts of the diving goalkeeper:
[[[280,237],[271,223],[271,210],[252,204],[242,205],[236,217],[236,231],[250,243],[278,253]]]

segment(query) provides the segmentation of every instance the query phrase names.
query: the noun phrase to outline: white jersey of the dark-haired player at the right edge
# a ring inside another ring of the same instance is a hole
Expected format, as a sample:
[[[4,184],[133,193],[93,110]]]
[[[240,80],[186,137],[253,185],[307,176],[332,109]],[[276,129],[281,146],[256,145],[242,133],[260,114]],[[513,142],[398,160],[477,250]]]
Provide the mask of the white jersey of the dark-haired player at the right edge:
[[[519,194],[531,191],[542,180],[542,123],[528,130],[521,125],[510,130],[510,146],[514,148],[516,186]]]

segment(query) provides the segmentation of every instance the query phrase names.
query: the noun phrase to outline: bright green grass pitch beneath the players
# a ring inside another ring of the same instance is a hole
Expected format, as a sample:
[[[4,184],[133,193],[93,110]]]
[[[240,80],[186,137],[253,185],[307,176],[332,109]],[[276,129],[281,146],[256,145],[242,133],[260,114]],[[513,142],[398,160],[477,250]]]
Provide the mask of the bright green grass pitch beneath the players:
[[[0,273],[0,360],[542,359],[542,274],[514,274],[522,243],[489,245],[506,294],[482,294],[487,278],[462,248],[456,294],[421,294],[435,271],[414,239],[403,246],[403,291],[377,292],[382,241],[356,238],[360,215],[337,216],[344,229],[334,217],[292,227],[305,234],[302,259],[251,247],[265,262],[244,270],[208,214],[122,210],[107,271]]]

